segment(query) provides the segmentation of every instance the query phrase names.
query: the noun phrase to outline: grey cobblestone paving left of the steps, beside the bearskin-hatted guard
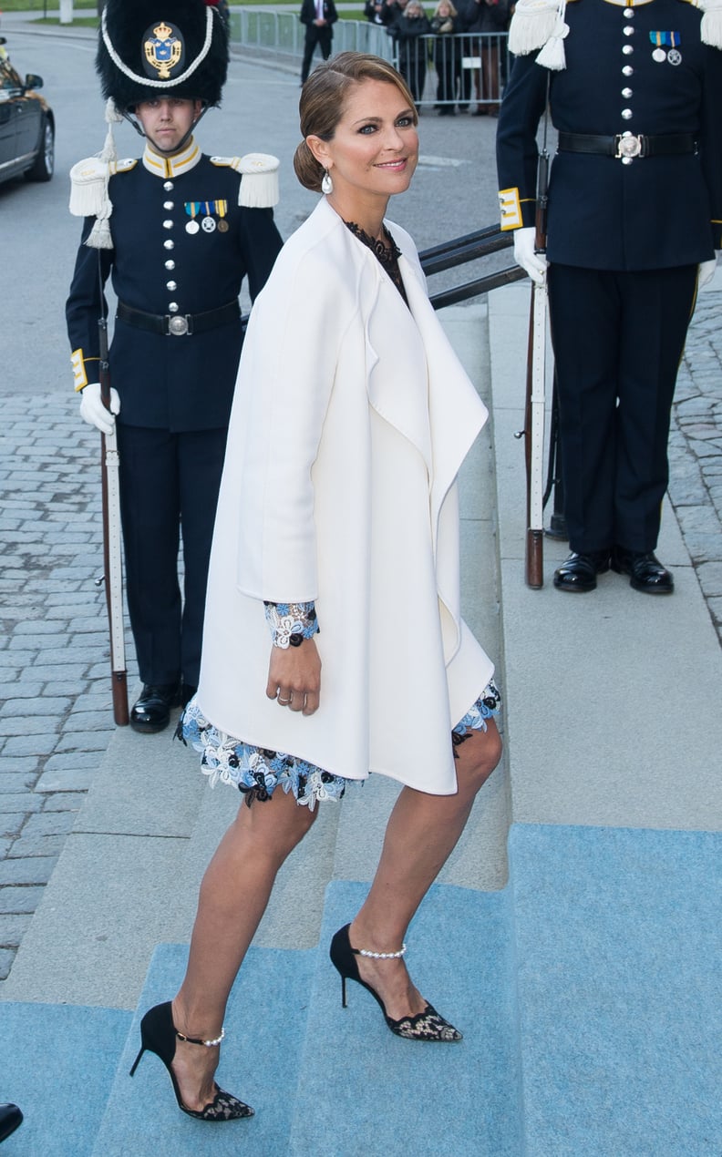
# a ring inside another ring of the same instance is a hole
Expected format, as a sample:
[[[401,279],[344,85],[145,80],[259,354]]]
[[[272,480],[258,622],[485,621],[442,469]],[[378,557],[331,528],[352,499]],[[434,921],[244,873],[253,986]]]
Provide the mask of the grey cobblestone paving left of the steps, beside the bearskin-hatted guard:
[[[112,734],[100,435],[71,395],[0,400],[0,980]]]

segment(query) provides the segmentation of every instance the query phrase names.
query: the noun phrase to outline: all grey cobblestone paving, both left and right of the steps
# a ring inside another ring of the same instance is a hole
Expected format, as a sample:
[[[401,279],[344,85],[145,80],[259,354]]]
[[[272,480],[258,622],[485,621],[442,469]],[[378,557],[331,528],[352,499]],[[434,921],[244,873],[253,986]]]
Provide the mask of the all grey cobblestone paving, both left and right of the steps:
[[[670,495],[722,641],[721,309],[721,293],[702,295],[690,331]],[[60,395],[0,399],[0,430],[2,980],[113,724],[104,595],[95,585],[100,437],[79,420],[76,399]]]

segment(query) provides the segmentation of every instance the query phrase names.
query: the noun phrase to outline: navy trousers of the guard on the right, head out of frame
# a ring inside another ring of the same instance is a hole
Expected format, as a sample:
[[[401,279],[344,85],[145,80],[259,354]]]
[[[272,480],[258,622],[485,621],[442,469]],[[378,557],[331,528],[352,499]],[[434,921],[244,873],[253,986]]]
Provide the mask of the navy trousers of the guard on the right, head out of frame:
[[[697,265],[550,265],[565,516],[573,551],[654,551]]]

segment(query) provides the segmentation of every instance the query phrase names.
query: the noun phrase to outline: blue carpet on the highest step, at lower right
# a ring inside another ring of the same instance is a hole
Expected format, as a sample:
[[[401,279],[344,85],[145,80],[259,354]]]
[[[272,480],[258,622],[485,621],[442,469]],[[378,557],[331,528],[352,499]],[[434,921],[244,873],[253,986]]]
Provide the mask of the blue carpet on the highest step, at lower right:
[[[722,835],[515,825],[528,1157],[722,1155]]]

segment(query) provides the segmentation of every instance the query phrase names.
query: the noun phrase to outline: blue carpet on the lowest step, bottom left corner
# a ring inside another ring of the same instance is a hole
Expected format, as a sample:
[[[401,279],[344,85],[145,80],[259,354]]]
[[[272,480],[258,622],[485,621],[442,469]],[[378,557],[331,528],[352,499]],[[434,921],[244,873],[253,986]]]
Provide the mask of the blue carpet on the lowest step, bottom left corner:
[[[2,1157],[93,1151],[130,1024],[119,1009],[0,1002],[0,1101],[24,1115]]]

